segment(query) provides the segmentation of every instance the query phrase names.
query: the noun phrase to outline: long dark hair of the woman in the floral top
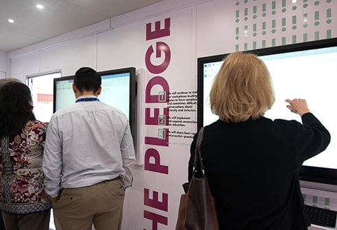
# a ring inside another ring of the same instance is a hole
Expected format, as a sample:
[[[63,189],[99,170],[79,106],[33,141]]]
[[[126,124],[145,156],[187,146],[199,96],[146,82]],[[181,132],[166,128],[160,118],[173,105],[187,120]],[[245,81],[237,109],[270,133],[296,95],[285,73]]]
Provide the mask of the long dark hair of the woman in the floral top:
[[[20,133],[28,121],[36,120],[30,88],[21,82],[7,82],[0,89],[0,134]]]

